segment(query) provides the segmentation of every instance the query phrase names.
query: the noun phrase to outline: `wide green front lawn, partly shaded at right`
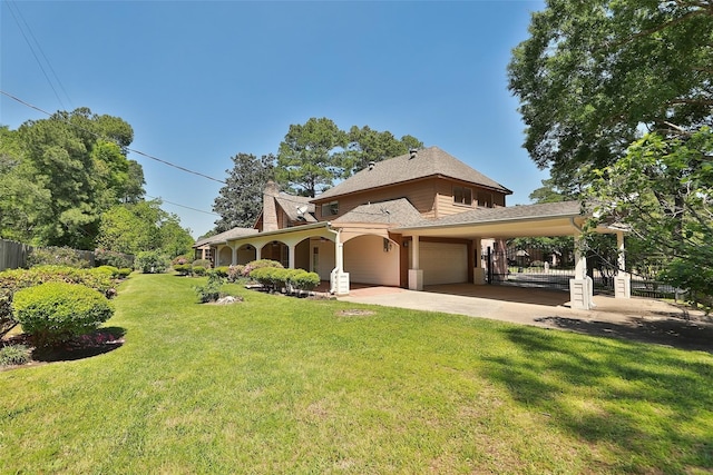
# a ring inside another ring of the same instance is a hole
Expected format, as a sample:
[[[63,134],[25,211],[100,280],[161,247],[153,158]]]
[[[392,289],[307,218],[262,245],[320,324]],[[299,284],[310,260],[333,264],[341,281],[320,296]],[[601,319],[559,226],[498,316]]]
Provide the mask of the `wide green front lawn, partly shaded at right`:
[[[713,355],[133,276],[126,344],[0,373],[0,473],[713,471]]]

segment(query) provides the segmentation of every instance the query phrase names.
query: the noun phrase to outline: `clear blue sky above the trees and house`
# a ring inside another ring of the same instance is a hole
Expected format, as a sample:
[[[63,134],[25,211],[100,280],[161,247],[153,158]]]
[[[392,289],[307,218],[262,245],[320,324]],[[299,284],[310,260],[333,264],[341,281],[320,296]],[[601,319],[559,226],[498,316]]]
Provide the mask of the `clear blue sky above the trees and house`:
[[[506,67],[543,7],[4,0],[0,89],[49,112],[120,117],[133,149],[217,179],[238,152],[276,152],[291,123],[368,125],[438,146],[527,204],[548,172],[521,148]],[[0,125],[46,117],[0,95]],[[221,184],[130,158],[194,237],[213,228]]]

